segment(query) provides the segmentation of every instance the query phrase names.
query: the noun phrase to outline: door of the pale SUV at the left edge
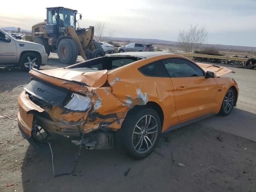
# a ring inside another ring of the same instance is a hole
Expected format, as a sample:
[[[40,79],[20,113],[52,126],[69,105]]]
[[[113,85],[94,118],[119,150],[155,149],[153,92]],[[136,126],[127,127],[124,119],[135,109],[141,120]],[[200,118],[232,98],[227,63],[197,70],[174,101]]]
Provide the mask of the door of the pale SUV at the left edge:
[[[0,63],[13,64],[17,57],[15,40],[8,36],[10,40],[6,41],[5,36],[6,34],[0,31]]]

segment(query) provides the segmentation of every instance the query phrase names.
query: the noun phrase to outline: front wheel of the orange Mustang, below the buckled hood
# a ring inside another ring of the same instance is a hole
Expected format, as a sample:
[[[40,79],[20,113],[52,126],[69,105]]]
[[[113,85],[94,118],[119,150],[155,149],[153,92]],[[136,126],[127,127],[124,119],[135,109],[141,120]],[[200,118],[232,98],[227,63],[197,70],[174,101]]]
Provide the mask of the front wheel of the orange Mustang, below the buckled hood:
[[[232,104],[228,105],[228,104],[226,104],[226,101],[231,101],[231,96],[230,97],[228,96],[229,92],[231,92],[231,94],[232,94],[233,102],[232,102]],[[235,102],[236,102],[236,93],[234,91],[234,88],[231,87],[227,90],[227,92],[226,92],[226,94],[223,98],[219,114],[222,115],[222,116],[229,115],[232,112],[233,108],[234,108]]]

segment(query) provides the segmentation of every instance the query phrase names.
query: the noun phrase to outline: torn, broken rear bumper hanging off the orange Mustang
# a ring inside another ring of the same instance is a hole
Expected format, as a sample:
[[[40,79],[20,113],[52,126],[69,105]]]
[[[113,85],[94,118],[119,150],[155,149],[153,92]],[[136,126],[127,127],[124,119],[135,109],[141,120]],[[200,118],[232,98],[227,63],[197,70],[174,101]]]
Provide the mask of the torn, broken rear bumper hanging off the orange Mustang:
[[[48,142],[48,136],[54,133],[70,136],[74,139],[74,142],[72,142],[78,145],[80,144],[79,136],[82,135],[82,131],[87,132],[84,134],[86,138],[83,144],[88,149],[110,149],[114,146],[114,129],[108,128],[108,125],[120,124],[120,120],[115,115],[103,116],[98,113],[92,113],[82,123],[81,120],[78,122],[61,122],[45,118],[43,114],[47,112],[32,102],[25,91],[20,94],[18,103],[20,110],[18,111],[17,119],[20,132],[38,152],[42,152],[41,148],[44,147],[42,143]],[[43,141],[36,138],[40,128],[43,128],[47,135]]]

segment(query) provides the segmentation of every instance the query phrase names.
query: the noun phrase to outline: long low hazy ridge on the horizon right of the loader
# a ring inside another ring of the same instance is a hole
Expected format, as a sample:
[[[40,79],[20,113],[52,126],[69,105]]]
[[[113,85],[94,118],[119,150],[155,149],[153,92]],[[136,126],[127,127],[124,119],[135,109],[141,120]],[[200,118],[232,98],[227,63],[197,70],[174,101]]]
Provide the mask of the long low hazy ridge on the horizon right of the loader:
[[[150,43],[150,44],[154,44],[154,45],[179,46],[179,42],[166,41],[166,40],[160,40],[160,39],[112,37],[111,40],[117,41],[117,42],[128,42],[128,40],[129,40],[130,42]],[[202,48],[207,47],[207,46],[214,46],[220,50],[256,51],[256,47],[221,45],[221,44],[202,44]]]

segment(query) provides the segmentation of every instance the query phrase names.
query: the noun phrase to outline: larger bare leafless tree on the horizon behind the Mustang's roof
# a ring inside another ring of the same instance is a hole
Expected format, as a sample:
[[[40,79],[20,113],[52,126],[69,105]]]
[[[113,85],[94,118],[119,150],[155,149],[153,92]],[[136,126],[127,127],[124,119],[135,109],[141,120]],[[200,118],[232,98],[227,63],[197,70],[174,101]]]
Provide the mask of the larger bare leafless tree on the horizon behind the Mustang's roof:
[[[193,53],[202,43],[206,42],[207,38],[208,32],[205,27],[199,28],[198,25],[190,25],[190,29],[179,32],[178,42],[184,51]]]

